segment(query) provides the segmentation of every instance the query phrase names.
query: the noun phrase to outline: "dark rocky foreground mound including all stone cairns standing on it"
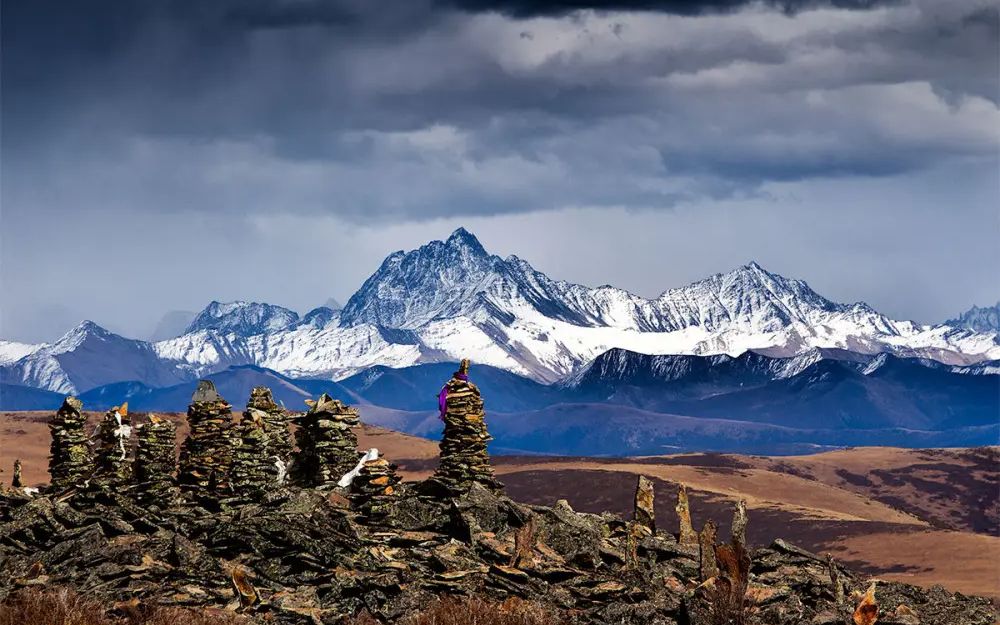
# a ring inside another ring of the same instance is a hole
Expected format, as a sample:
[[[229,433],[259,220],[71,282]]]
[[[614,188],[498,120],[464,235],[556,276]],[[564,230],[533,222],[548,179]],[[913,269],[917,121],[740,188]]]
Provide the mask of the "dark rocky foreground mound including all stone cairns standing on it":
[[[162,420],[115,408],[95,449],[69,398],[50,422],[52,484],[0,491],[0,601],[58,587],[109,608],[223,608],[279,624],[392,623],[443,595],[516,597],[594,624],[997,621],[984,598],[862,579],[783,541],[750,549],[742,503],[730,537],[711,521],[695,532],[683,487],[676,533],[657,527],[642,477],[630,519],[517,503],[493,476],[467,370],[442,389],[441,466],[420,483],[400,483],[376,450],[362,457],[357,413],[325,396],[292,418],[293,450],[270,391],[254,389],[237,424],[205,383],[176,467]]]

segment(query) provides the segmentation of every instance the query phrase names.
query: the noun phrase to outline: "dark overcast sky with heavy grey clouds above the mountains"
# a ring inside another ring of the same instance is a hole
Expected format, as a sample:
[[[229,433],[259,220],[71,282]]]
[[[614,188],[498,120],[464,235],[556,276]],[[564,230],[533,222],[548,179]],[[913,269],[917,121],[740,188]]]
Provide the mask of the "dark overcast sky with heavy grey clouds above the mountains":
[[[4,0],[0,337],[345,301],[464,225],[646,296],[1000,299],[994,0]]]

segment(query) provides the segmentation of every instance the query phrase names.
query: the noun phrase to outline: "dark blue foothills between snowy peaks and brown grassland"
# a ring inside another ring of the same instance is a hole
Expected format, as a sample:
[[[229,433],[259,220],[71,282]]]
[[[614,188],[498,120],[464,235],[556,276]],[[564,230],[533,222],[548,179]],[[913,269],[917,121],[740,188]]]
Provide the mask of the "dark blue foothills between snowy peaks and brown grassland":
[[[236,409],[254,386],[292,410],[320,393],[358,406],[364,421],[440,434],[436,392],[456,363],[351,377],[295,379],[243,365],[211,376]],[[774,358],[649,356],[611,350],[580,375],[545,385],[488,365],[474,369],[495,448],[526,453],[655,454],[683,450],[799,453],[843,445],[955,446],[1000,440],[998,363],[958,367],[887,354],[812,352]],[[118,382],[80,395],[92,410],[183,411],[196,382]],[[63,396],[5,385],[7,409],[54,409]]]

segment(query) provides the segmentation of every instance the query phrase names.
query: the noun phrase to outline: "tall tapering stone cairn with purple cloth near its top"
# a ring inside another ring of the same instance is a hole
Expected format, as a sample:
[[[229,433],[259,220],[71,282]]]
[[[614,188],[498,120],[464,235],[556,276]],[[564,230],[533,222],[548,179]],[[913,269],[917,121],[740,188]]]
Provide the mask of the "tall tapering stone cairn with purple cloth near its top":
[[[464,492],[474,482],[490,490],[503,486],[493,475],[486,445],[493,438],[486,431],[483,399],[479,388],[469,382],[469,360],[462,360],[438,396],[444,436],[440,462],[434,481],[452,492]]]

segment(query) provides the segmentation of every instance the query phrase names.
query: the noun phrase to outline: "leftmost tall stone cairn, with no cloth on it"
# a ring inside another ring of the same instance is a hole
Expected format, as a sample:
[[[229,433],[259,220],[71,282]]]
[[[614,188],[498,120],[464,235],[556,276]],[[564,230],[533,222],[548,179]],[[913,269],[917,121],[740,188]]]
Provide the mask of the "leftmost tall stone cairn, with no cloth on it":
[[[49,447],[51,488],[62,491],[84,485],[94,471],[93,456],[87,440],[87,417],[76,397],[67,397],[49,421],[52,444]]]

